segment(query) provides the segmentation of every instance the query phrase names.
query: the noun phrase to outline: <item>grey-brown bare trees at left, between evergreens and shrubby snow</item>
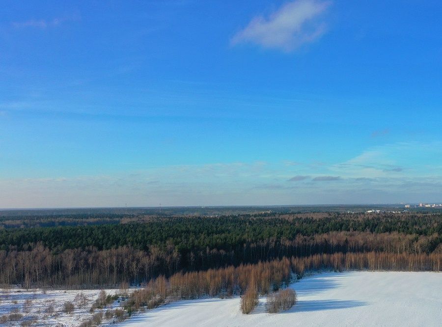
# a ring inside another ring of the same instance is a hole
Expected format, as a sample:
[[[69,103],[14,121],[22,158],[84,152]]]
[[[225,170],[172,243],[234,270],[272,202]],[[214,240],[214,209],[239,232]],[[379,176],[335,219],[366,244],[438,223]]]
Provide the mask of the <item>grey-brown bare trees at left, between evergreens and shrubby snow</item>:
[[[115,287],[122,280],[145,281],[180,269],[176,250],[152,246],[150,252],[122,246],[98,251],[67,249],[54,254],[42,245],[30,251],[0,251],[0,283],[24,287]]]

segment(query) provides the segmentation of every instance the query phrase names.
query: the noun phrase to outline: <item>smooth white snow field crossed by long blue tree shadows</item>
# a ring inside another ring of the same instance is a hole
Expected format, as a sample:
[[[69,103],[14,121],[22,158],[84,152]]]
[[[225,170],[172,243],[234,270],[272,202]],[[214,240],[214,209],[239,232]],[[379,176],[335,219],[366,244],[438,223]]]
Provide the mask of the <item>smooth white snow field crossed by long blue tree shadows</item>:
[[[319,273],[290,287],[297,304],[276,314],[265,298],[249,315],[238,297],[181,300],[118,326],[442,326],[442,273]]]

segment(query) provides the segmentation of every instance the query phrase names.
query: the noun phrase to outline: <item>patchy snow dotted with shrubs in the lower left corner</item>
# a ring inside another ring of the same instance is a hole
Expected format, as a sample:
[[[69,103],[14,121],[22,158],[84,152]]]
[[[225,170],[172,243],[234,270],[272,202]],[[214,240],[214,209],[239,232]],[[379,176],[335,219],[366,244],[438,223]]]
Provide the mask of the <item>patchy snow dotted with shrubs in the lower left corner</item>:
[[[118,290],[111,289],[105,290],[106,294],[113,295]],[[4,290],[0,290],[0,316],[4,314],[9,314],[11,310],[17,309],[18,313],[24,316],[18,322],[10,322],[8,324],[1,324],[0,326],[19,326],[24,320],[30,317],[35,317],[37,319],[36,324],[32,326],[79,326],[84,320],[87,320],[92,316],[89,313],[89,309],[98,298],[100,290],[24,290],[24,289],[11,289],[5,293]],[[83,293],[87,297],[87,303],[82,307],[78,308],[75,304],[75,310],[72,314],[66,314],[63,312],[63,304],[66,301],[72,301],[75,303],[75,296],[77,294]],[[29,312],[24,312],[23,304],[25,300],[31,300],[31,306]],[[119,303],[115,301],[107,308],[103,309],[103,312],[107,309],[114,309]],[[54,307],[54,312],[48,314],[45,309],[49,306]],[[95,312],[98,312],[95,311]],[[103,318],[104,319],[104,318]]]

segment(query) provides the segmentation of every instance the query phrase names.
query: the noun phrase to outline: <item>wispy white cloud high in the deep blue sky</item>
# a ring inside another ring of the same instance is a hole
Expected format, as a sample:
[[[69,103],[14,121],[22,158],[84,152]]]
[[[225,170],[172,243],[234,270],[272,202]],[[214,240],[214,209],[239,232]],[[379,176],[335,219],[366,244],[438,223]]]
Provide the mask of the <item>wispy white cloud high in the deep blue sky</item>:
[[[296,50],[325,33],[326,25],[321,17],[330,5],[330,1],[317,0],[287,2],[268,18],[254,17],[233,36],[231,44],[253,43],[285,52]]]

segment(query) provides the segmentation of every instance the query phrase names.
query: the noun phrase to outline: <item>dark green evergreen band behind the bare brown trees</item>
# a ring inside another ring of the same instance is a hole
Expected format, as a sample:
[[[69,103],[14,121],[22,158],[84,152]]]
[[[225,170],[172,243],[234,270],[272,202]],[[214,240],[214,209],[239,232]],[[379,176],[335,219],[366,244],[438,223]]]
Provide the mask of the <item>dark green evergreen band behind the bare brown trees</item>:
[[[0,249],[27,250],[37,243],[59,252],[65,249],[99,250],[120,246],[149,250],[174,246],[181,254],[192,250],[238,250],[245,243],[294,240],[339,231],[442,235],[440,215],[342,215],[279,218],[252,215],[233,217],[150,218],[147,222],[91,226],[20,228],[0,230]],[[433,245],[432,245],[433,246]]]

